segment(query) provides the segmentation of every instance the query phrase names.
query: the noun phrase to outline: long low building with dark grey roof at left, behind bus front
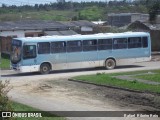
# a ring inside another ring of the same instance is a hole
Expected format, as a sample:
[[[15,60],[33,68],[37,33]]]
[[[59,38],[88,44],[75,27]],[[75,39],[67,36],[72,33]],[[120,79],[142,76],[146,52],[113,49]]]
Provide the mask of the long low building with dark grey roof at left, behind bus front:
[[[55,21],[27,20],[0,22],[1,52],[9,54],[11,40],[16,37],[39,37],[44,35],[74,35],[69,26]]]

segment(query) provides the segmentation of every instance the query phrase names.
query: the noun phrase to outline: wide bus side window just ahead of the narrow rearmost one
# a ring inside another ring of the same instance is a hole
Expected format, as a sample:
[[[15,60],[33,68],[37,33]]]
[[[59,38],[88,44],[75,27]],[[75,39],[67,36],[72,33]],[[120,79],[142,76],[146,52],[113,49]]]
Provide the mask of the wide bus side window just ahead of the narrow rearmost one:
[[[142,40],[141,37],[130,37],[128,38],[128,48],[141,48]]]

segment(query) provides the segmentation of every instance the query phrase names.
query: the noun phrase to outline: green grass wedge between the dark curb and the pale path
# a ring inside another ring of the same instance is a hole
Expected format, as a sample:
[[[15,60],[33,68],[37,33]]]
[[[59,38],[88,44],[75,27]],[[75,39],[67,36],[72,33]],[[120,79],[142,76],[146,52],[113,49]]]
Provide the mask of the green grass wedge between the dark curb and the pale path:
[[[121,75],[122,74],[126,75],[128,73],[121,73]],[[160,85],[145,84],[145,83],[138,82],[136,80],[135,81],[121,80],[121,79],[113,78],[112,77],[113,75],[115,74],[84,75],[84,76],[74,77],[73,79],[94,83],[97,85],[109,85],[109,86],[132,89],[132,90],[160,93]],[[133,72],[132,72],[132,75],[133,75]]]

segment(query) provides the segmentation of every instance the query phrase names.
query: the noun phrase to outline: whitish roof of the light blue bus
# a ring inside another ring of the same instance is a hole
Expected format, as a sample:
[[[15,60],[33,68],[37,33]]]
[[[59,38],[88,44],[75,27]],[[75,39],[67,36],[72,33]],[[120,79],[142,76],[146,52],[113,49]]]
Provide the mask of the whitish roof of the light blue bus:
[[[140,37],[149,36],[147,32],[124,32],[124,33],[98,33],[92,35],[70,35],[70,36],[42,36],[42,37],[24,37],[14,38],[14,40],[21,40],[22,42],[51,42],[51,41],[72,41],[72,40],[87,40],[87,39],[104,39],[104,38],[126,38],[126,37]]]

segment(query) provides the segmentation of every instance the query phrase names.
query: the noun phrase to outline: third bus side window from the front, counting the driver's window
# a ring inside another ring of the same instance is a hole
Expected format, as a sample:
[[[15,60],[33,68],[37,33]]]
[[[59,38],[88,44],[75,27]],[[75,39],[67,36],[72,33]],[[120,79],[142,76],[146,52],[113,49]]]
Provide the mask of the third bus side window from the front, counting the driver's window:
[[[51,42],[51,53],[65,53],[66,52],[66,42]]]

